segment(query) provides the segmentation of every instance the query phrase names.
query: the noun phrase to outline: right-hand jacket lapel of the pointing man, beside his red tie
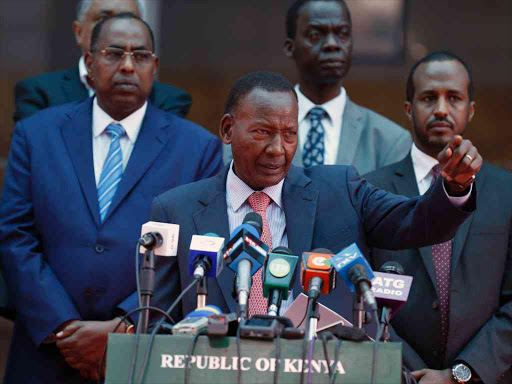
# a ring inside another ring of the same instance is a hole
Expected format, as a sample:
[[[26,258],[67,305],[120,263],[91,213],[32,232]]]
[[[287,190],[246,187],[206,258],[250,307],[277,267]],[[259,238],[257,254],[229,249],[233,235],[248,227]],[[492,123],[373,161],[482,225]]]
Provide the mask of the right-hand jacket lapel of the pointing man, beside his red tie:
[[[301,252],[311,250],[315,213],[319,191],[306,188],[311,179],[306,177],[300,168],[292,166],[283,185],[283,204],[286,215],[286,234],[288,248],[294,255],[302,256]],[[300,278],[295,275],[294,295],[302,292]]]

